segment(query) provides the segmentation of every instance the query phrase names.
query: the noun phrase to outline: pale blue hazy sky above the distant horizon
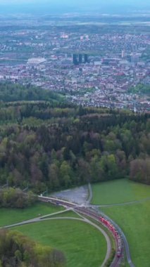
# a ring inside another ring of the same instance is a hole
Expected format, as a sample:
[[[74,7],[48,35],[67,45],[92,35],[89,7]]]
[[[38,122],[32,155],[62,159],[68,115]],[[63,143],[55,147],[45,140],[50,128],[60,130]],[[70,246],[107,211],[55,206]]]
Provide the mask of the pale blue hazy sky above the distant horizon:
[[[48,9],[47,9],[48,8]],[[124,11],[124,8],[150,8],[150,0],[0,0],[0,12],[8,11]]]

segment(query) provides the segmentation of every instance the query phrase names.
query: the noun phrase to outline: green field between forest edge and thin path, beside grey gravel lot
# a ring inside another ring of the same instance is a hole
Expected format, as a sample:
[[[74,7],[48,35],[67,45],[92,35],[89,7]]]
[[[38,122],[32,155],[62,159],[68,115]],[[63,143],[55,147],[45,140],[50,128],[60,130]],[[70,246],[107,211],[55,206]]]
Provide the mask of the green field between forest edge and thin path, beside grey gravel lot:
[[[115,204],[150,197],[150,186],[127,179],[107,181],[92,185],[92,204]]]

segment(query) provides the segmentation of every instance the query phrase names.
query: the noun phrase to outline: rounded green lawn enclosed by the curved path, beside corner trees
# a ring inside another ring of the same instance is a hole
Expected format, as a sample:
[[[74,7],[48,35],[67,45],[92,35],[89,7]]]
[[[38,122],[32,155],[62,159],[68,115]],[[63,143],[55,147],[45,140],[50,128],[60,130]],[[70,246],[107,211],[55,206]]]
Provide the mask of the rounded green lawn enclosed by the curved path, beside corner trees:
[[[32,240],[60,249],[65,254],[67,267],[99,267],[106,255],[104,235],[82,221],[56,219],[12,230],[19,230]]]

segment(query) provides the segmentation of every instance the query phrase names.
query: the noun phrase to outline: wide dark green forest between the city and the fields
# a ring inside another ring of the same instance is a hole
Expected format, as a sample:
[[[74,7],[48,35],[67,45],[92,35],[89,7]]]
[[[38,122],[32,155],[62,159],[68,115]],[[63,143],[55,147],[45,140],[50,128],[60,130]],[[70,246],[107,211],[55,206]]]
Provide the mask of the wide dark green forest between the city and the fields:
[[[42,193],[125,176],[150,184],[149,114],[72,105],[19,84],[1,83],[0,97],[0,185]]]

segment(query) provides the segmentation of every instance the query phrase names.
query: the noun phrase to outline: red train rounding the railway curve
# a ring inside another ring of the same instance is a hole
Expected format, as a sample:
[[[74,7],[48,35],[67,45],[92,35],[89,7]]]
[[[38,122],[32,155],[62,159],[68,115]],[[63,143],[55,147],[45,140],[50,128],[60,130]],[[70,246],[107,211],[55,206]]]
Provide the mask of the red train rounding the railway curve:
[[[117,240],[118,243],[118,249],[117,249],[117,256],[118,258],[120,258],[121,253],[122,253],[122,242],[121,242],[121,238],[120,235],[118,234],[118,231],[115,229],[115,227],[108,221],[106,220],[104,217],[100,216],[99,217],[99,221],[101,221],[102,223],[104,223],[105,226],[107,226],[109,228],[109,230],[111,230],[111,232],[113,233],[113,235],[115,236],[115,239]]]

